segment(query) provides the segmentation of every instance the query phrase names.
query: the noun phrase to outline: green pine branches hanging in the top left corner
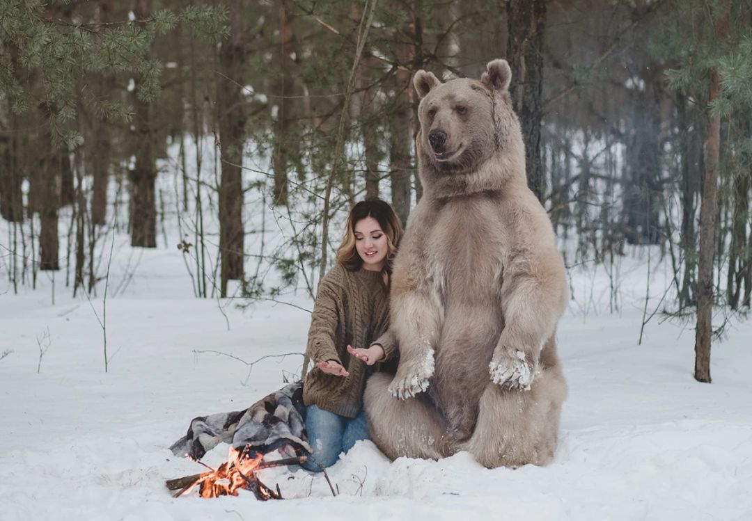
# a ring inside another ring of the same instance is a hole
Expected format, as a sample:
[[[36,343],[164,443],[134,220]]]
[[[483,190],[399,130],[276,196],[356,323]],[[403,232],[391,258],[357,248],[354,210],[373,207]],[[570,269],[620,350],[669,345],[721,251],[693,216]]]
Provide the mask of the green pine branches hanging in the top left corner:
[[[171,29],[176,17],[160,11],[149,20],[123,22],[101,30],[99,23],[74,23],[59,16],[63,2],[7,0],[0,8],[0,41],[13,46],[14,62],[0,55],[0,92],[21,113],[29,107],[48,108],[47,124],[55,143],[80,144],[81,137],[68,122],[76,116],[76,101],[86,97],[96,113],[128,121],[132,110],[101,99],[77,77],[85,71],[131,71],[144,77],[139,97],[154,98],[159,90],[159,64],[147,58],[147,49],[159,32]]]

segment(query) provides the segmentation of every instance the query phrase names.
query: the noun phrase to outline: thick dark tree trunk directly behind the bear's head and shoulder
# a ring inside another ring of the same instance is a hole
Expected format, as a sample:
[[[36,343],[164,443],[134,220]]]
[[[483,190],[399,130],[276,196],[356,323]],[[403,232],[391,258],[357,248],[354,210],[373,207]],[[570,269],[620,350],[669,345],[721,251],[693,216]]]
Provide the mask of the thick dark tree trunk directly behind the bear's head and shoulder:
[[[543,201],[546,179],[541,163],[543,119],[543,37],[547,0],[506,0],[507,59],[512,70],[509,87],[520,116],[525,141],[525,167],[530,189]]]

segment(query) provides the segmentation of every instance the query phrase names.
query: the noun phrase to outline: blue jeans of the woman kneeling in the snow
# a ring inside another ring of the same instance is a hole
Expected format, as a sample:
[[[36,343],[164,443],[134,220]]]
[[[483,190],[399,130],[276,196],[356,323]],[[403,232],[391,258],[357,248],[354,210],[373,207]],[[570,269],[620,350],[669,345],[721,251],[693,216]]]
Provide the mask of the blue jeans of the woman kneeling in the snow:
[[[365,411],[360,411],[354,418],[348,418],[324,411],[316,405],[308,405],[305,408],[305,429],[314,453],[301,466],[311,472],[320,472],[321,467],[334,465],[339,454],[353,448],[356,441],[371,439],[368,436]]]

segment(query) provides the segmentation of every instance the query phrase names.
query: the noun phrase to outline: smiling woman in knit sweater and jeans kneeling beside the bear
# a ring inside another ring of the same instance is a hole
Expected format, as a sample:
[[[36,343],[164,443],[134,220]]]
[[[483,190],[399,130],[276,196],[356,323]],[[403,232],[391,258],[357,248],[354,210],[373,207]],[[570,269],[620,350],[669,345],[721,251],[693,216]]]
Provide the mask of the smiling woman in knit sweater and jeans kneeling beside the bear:
[[[305,426],[314,449],[303,467],[310,471],[333,465],[356,441],[369,439],[362,396],[371,366],[396,351],[385,333],[389,276],[401,234],[389,204],[357,203],[347,216],[337,263],[321,281],[308,331],[308,357],[315,367],[303,383]]]

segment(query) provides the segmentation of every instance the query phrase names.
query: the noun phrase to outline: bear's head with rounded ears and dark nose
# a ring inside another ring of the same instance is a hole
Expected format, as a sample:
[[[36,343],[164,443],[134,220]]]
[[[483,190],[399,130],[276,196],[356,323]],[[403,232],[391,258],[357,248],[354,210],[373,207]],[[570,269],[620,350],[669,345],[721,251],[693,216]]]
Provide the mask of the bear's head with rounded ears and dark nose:
[[[443,83],[427,71],[415,74],[413,84],[420,98],[416,145],[424,182],[460,188],[470,182],[460,178],[478,177],[484,170],[488,179],[480,184],[498,185],[518,174],[505,170],[519,170],[520,161],[524,176],[525,152],[509,95],[510,80],[511,70],[503,59],[489,62],[481,80],[458,78]],[[489,169],[484,165],[492,158],[498,160],[494,161],[497,167],[485,171]],[[479,181],[473,184],[481,189]]]

